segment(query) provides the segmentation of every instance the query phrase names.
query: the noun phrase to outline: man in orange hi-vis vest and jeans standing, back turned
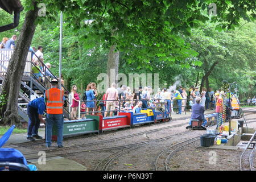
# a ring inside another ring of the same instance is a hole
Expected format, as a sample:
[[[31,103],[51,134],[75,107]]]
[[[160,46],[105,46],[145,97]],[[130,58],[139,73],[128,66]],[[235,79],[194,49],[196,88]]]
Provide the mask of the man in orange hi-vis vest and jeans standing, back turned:
[[[64,91],[57,88],[57,80],[52,80],[51,89],[46,90],[46,147],[51,147],[52,127],[57,126],[57,147],[63,147],[63,104]]]

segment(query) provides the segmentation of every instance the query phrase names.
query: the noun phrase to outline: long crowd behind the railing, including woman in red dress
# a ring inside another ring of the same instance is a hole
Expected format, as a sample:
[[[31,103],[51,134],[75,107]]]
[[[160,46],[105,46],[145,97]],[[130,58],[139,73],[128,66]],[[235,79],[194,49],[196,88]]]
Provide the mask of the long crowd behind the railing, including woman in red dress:
[[[200,92],[198,86],[191,86],[189,89],[179,86],[177,90],[171,91],[163,88],[162,90],[158,89],[155,94],[152,94],[151,86],[144,86],[144,88],[139,86],[139,88],[135,88],[131,92],[129,86],[122,85],[116,88],[115,83],[112,83],[103,97],[98,98],[99,95],[94,82],[89,83],[85,92],[80,94],[80,96],[77,93],[76,85],[73,85],[71,90],[71,118],[77,119],[79,101],[81,101],[80,111],[82,118],[85,117],[85,113],[95,114],[96,112],[101,112],[104,117],[107,117],[108,115],[117,115],[120,110],[138,113],[141,109],[146,108],[164,110],[167,113],[174,113],[174,109],[177,108],[176,113],[181,114],[187,110],[187,107],[189,107],[189,111],[192,111],[192,105],[197,103],[197,97],[200,98],[200,105],[205,110],[215,109],[215,93],[220,92],[220,90],[216,90],[216,92],[213,92],[211,88],[209,90],[202,88],[201,90]]]

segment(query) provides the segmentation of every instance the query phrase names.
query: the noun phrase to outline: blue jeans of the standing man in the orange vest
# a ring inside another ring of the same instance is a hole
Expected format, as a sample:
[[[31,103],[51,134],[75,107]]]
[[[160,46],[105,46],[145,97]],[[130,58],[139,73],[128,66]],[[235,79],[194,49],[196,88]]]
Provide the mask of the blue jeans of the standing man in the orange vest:
[[[57,145],[62,145],[63,140],[63,114],[46,114],[46,144],[52,144],[52,127],[57,126]]]

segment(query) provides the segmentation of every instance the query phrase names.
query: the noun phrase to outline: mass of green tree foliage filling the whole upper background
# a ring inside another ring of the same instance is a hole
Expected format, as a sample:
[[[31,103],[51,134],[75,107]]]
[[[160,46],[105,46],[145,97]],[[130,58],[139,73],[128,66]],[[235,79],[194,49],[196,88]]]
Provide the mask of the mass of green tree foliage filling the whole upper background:
[[[31,1],[23,3],[24,11],[32,7]],[[69,84],[85,87],[96,82],[96,76],[106,72],[109,47],[116,45],[121,73],[159,73],[161,85],[173,84],[180,75],[182,85],[190,86],[195,85],[197,73],[201,80],[218,60],[209,76],[211,87],[220,88],[228,78],[238,81],[246,93],[255,93],[255,23],[241,20],[255,20],[255,1],[216,1],[216,16],[208,15],[210,0],[40,3],[46,4],[47,16],[38,18],[32,46],[44,47],[45,62],[59,75],[59,13],[63,11],[63,75]]]

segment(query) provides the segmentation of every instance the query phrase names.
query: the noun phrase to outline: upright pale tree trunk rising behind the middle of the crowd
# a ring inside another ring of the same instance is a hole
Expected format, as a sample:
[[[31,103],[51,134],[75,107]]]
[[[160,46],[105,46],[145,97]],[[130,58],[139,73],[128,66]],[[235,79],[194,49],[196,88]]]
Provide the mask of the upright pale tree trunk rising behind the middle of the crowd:
[[[118,83],[118,62],[119,51],[115,51],[115,46],[111,46],[108,55],[107,74],[109,77],[109,87],[112,82]],[[120,86],[120,85],[119,85]]]

